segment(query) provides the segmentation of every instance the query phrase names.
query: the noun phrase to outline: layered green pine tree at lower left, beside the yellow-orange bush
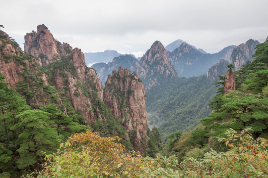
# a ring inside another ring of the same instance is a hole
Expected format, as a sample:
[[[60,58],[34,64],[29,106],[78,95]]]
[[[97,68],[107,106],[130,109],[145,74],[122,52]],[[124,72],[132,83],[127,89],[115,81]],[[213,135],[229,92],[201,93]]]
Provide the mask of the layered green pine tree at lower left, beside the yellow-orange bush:
[[[27,110],[16,116],[19,123],[11,129],[18,130],[17,150],[20,158],[17,160],[18,168],[25,169],[34,166],[39,170],[39,163],[44,157],[43,152],[50,154],[56,152],[58,144],[58,134],[55,128],[49,126],[49,113],[40,110]]]

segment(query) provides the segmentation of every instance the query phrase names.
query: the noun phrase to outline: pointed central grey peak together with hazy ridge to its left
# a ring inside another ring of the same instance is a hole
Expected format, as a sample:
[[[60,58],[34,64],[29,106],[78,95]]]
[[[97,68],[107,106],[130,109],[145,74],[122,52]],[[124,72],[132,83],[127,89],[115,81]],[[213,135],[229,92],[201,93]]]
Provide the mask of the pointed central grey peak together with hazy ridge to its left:
[[[112,62],[97,63],[91,66],[98,73],[102,84],[107,79],[108,74],[112,74],[119,66],[134,72],[136,70],[139,78],[143,81],[145,89],[158,86],[161,81],[170,80],[178,76],[174,65],[168,60],[165,47],[158,41],[146,51],[140,61],[131,55],[115,57]]]

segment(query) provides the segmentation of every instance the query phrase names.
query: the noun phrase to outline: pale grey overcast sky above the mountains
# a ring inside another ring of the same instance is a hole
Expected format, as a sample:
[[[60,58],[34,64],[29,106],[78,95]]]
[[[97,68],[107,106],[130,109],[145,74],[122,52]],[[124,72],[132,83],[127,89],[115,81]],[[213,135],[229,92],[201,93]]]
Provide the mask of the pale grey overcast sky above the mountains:
[[[268,36],[268,0],[0,0],[1,29],[23,48],[45,24],[84,52],[141,56],[154,41],[181,39],[206,52]]]

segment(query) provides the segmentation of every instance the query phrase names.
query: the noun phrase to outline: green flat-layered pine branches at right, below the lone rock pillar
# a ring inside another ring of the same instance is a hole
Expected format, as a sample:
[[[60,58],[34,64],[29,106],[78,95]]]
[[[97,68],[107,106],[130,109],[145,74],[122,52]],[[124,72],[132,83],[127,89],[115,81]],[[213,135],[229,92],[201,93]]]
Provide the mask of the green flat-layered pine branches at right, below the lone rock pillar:
[[[230,91],[221,99],[221,107],[202,120],[210,131],[208,135],[220,136],[228,127],[236,130],[252,127],[255,138],[267,134],[268,98]]]

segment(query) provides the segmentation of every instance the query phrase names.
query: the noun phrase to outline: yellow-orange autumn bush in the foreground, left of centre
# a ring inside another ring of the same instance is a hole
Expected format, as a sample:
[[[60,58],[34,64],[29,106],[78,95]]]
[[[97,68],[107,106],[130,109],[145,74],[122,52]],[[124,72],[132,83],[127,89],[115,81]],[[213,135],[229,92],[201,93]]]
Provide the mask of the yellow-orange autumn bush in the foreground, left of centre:
[[[135,152],[126,152],[124,145],[116,143],[118,136],[101,137],[87,131],[74,134],[65,143],[64,151],[47,155],[47,165],[38,177],[42,178],[136,178],[134,170],[143,158]]]

